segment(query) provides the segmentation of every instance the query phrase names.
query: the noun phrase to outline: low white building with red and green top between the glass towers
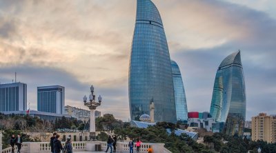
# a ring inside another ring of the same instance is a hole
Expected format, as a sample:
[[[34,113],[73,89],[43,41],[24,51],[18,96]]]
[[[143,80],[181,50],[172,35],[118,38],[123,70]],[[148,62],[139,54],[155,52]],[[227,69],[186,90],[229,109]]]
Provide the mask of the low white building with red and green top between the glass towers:
[[[204,128],[210,132],[219,132],[217,122],[210,117],[209,112],[188,112],[188,126],[189,129],[193,130]]]

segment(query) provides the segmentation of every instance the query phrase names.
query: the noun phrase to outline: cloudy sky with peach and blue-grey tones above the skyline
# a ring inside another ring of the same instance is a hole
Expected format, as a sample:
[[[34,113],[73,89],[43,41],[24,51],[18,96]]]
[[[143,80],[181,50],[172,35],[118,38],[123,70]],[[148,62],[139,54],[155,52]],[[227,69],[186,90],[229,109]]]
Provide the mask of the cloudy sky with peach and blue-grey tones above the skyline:
[[[276,1],[152,0],[163,19],[170,57],[179,64],[188,111],[210,109],[215,73],[242,51],[246,118],[276,114]],[[127,121],[128,64],[135,0],[0,1],[0,82],[63,85],[66,105],[85,108],[91,84],[103,96],[99,110]]]

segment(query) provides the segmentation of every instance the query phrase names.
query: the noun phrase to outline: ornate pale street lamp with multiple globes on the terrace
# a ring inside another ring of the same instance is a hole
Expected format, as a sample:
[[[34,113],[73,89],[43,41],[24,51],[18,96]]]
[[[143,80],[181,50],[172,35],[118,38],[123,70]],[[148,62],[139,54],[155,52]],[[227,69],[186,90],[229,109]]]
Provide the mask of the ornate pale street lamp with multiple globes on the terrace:
[[[89,101],[87,101],[87,96],[83,96],[83,103],[86,105],[90,110],[90,139],[96,138],[96,126],[95,126],[95,110],[96,108],[101,105],[101,95],[98,97],[98,101],[95,101],[94,95],[94,87],[91,85],[90,87],[91,94],[89,95]]]

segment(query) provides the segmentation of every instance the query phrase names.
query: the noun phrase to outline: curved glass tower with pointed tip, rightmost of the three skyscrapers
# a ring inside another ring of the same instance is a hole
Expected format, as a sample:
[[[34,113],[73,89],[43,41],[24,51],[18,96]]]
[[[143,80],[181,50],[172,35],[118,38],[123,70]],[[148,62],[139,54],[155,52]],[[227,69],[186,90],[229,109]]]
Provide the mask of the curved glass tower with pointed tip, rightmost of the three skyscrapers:
[[[210,114],[224,123],[223,132],[242,136],[246,119],[246,85],[240,51],[226,57],[217,70]]]

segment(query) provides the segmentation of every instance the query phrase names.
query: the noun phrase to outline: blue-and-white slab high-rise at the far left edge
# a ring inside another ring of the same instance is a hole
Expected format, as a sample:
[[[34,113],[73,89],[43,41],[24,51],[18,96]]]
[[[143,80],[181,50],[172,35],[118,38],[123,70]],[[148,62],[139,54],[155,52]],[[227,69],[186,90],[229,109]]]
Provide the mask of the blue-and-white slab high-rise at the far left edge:
[[[27,84],[0,84],[0,112],[27,110]]]

